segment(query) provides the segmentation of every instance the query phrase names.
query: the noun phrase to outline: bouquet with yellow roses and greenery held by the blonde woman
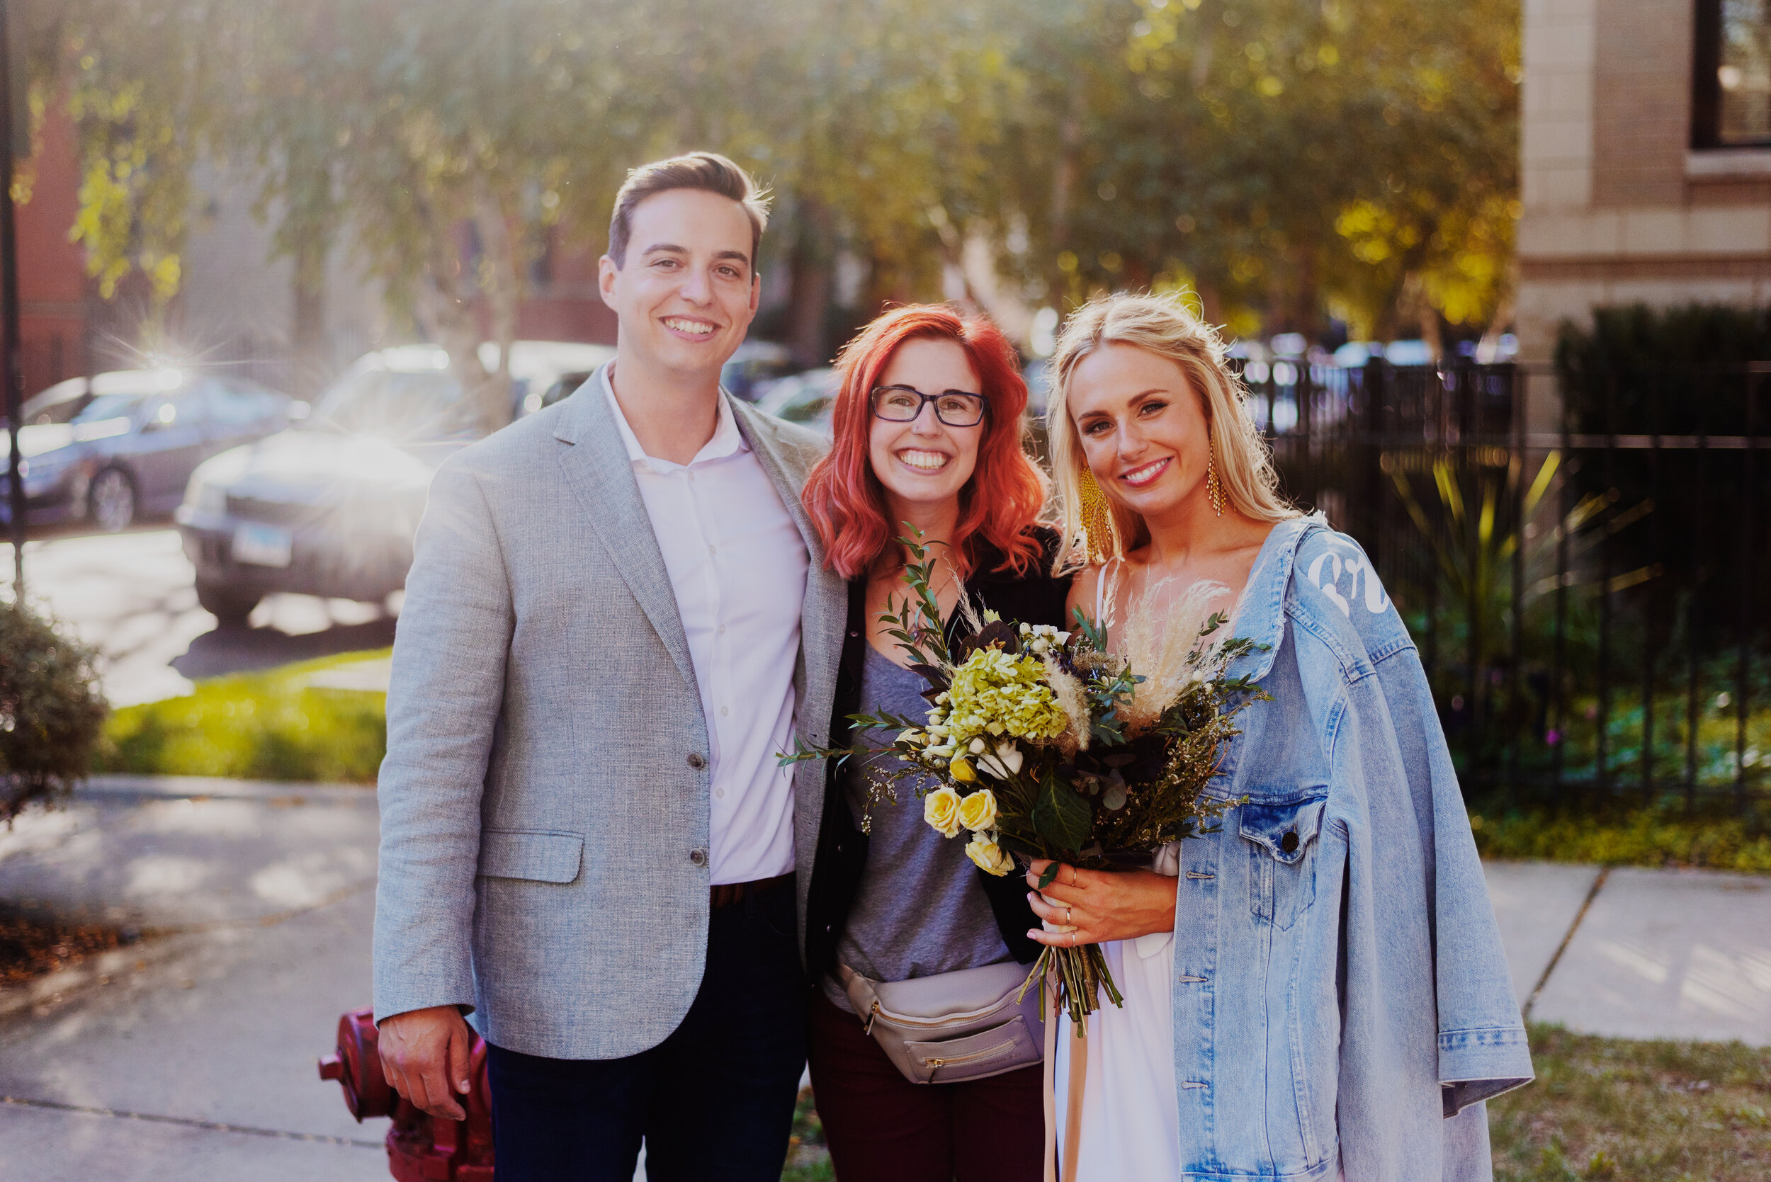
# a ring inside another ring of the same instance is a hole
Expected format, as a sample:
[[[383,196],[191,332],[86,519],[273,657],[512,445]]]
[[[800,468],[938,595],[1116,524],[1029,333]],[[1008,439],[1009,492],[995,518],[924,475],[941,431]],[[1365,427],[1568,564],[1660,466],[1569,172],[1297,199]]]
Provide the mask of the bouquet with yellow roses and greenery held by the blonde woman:
[[[994,612],[978,619],[962,596],[972,633],[949,651],[930,591],[933,563],[919,541],[900,541],[916,559],[905,568],[910,598],[896,612],[887,602],[880,619],[928,681],[928,717],[850,715],[857,734],[898,734],[886,747],[785,759],[891,752],[900,763],[880,773],[870,802],[903,777],[930,777],[937,787],[923,794],[928,825],[946,837],[969,833],[965,853],[988,874],[1013,872],[1011,855],[1050,858],[1041,886],[1059,862],[1125,867],[1210,832],[1203,826],[1234,803],[1208,798],[1204,787],[1236,734],[1234,715],[1266,695],[1226,672],[1254,642],[1217,639],[1227,618],[1206,614],[1206,605],[1222,587],[1194,587],[1162,612],[1165,621],[1133,614],[1118,655],[1107,648],[1105,621],[1080,609],[1077,628],[1059,632]],[[1098,945],[1047,947],[1029,984],[1048,971],[1079,1032],[1100,1009],[1100,989],[1123,1003]]]

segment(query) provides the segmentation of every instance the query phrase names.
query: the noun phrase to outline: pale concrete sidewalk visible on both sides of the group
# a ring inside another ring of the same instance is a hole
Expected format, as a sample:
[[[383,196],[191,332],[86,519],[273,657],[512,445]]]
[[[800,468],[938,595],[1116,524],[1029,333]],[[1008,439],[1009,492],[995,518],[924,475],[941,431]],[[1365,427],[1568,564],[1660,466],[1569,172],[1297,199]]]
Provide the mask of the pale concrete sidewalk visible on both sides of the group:
[[[0,897],[154,931],[0,991],[5,1178],[381,1182],[313,1060],[370,1000],[374,791],[101,777],[0,830]],[[1521,1005],[1771,1046],[1771,878],[1488,867]]]

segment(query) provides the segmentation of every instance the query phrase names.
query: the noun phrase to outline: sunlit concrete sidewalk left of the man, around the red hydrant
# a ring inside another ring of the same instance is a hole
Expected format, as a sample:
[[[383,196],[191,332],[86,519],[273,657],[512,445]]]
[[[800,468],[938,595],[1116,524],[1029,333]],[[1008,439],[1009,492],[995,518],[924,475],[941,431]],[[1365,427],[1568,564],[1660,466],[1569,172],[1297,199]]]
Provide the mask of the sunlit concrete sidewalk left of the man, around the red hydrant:
[[[0,991],[4,1175],[384,1182],[313,1069],[368,1003],[375,832],[372,789],[120,777],[0,832],[0,897],[168,933]]]

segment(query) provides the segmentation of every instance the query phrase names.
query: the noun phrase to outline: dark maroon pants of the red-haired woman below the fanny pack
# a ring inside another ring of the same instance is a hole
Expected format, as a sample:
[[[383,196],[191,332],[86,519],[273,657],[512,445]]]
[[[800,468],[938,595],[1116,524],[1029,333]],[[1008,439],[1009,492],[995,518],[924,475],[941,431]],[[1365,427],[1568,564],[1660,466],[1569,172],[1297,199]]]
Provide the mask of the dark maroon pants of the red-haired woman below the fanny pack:
[[[811,1092],[839,1182],[1038,1182],[1038,1065],[971,1083],[910,1083],[822,991],[811,1002]]]

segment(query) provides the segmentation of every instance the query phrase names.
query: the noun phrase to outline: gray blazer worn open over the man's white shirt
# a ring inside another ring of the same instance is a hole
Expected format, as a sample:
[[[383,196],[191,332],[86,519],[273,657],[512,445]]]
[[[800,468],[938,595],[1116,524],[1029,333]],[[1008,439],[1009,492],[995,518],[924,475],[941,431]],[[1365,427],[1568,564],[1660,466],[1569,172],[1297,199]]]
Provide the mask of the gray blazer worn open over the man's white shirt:
[[[377,787],[375,1019],[471,1005],[482,1035],[549,1058],[657,1046],[707,957],[707,722],[599,389],[437,471]],[[811,552],[793,687],[799,736],[822,745],[847,595],[799,492],[824,441],[731,409]],[[797,764],[793,789],[804,952],[822,763]]]

